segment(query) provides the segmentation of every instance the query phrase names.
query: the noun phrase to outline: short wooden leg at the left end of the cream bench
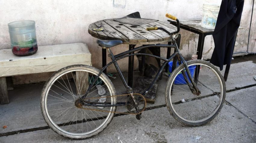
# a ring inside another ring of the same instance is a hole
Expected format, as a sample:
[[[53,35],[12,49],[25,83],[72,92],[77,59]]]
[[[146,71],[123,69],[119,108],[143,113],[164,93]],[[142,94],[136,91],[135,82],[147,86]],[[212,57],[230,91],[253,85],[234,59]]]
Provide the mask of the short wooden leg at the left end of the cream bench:
[[[6,86],[6,78],[0,77],[0,104],[8,104],[9,98],[8,98],[8,92],[7,92],[7,86]]]

